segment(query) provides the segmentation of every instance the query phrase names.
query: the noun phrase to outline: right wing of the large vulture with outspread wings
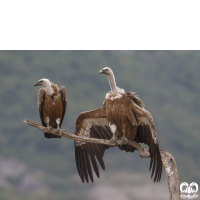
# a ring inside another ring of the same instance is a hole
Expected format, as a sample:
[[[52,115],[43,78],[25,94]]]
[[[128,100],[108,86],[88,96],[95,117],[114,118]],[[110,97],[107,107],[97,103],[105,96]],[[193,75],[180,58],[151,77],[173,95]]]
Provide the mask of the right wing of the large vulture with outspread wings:
[[[133,94],[129,94],[129,96],[131,95]],[[149,170],[152,169],[151,178],[154,175],[154,182],[159,182],[162,174],[162,160],[153,117],[150,112],[145,110],[141,104],[134,101],[133,98],[130,98],[130,100],[132,101],[132,112],[138,119],[138,129],[135,141],[149,146],[151,158]]]

